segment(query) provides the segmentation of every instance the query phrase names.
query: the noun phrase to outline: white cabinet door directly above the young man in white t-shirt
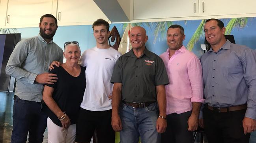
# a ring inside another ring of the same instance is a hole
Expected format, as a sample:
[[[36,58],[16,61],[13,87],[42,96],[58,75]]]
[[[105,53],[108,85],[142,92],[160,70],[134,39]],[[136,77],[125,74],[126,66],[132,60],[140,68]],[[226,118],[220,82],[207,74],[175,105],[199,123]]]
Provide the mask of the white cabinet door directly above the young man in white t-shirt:
[[[88,25],[107,16],[93,0],[58,0],[58,25]]]

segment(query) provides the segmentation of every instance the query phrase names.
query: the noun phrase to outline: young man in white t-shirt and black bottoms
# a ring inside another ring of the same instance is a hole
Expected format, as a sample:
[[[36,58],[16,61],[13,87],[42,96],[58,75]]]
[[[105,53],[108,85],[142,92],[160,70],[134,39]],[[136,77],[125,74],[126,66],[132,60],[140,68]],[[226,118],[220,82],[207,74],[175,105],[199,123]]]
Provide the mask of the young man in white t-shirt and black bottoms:
[[[109,24],[98,19],[92,25],[96,47],[84,51],[79,64],[86,67],[86,89],[77,121],[77,143],[90,143],[95,132],[98,143],[114,143],[115,132],[111,126],[110,78],[121,53],[108,45]]]

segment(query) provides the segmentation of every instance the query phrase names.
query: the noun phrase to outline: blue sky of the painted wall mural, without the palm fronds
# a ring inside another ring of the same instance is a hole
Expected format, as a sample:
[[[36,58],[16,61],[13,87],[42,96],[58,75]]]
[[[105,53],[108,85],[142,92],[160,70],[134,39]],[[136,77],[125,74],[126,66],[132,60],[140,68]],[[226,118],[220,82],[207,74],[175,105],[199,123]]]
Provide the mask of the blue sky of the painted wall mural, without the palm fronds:
[[[227,25],[230,18],[221,19],[224,25]],[[202,20],[187,20],[187,21],[173,21],[173,24],[179,24],[184,27],[186,39],[183,41],[183,45],[187,45],[192,35],[196,31]],[[146,47],[156,54],[161,54],[166,51],[166,37],[161,38],[161,33],[157,34],[157,40],[154,42],[155,27],[149,27],[146,23],[142,23],[147,31],[149,40],[146,43]],[[148,25],[153,25],[149,22]],[[110,24],[110,29],[116,26],[120,36],[122,37],[124,29],[123,24]],[[166,27],[167,30],[168,27]],[[19,28],[19,33],[22,33],[21,38],[30,38],[36,36],[39,33],[39,28]],[[164,34],[166,31],[164,32]],[[256,18],[248,18],[247,24],[244,27],[235,27],[232,29],[231,34],[235,37],[235,42],[240,45],[247,45],[252,49],[256,49]],[[95,39],[93,37],[92,25],[80,25],[80,26],[59,26],[54,36],[54,42],[63,48],[66,41],[78,41],[81,47],[81,51],[85,51],[95,46]],[[200,48],[200,44],[204,44],[204,35],[194,44],[192,52],[197,56],[201,56],[203,51]]]

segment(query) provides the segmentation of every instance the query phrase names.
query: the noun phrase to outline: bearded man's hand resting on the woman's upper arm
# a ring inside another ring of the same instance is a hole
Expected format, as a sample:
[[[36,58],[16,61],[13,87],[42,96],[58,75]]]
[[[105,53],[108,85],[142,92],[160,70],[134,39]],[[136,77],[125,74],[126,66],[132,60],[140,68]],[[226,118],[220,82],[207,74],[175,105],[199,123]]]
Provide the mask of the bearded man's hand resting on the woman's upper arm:
[[[44,84],[44,83],[53,84],[54,82],[56,82],[58,80],[58,78],[54,77],[54,76],[57,76],[57,75],[45,72],[43,74],[38,74],[36,76],[35,81],[38,83],[42,83],[42,84]]]

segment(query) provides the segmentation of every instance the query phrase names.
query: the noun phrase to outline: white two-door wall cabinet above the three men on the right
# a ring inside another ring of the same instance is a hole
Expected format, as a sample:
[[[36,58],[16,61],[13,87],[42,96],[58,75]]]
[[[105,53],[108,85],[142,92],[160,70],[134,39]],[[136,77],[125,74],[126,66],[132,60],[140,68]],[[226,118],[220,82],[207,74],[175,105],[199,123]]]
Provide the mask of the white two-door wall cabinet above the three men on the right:
[[[131,3],[132,22],[256,16],[256,0],[133,0]]]

